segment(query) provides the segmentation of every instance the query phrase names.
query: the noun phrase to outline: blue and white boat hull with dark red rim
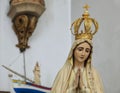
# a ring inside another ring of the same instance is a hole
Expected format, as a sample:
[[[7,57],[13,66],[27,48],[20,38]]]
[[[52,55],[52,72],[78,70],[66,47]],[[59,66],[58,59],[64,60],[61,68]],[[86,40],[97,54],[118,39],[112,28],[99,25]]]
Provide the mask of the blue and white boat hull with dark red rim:
[[[36,85],[29,82],[15,81],[13,82],[15,93],[50,93],[51,88]]]

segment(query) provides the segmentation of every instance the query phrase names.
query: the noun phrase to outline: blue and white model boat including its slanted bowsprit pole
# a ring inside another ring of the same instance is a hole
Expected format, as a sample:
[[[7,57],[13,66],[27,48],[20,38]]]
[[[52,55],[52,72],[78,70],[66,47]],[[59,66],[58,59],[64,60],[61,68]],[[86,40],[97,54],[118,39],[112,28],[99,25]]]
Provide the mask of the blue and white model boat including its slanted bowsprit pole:
[[[12,85],[13,85],[13,89],[14,89],[15,93],[50,93],[51,88],[31,83],[34,81],[30,80],[27,77],[24,77],[24,75],[21,75],[4,65],[2,65],[2,66],[5,69],[11,71],[12,73],[30,81],[30,82],[27,82],[27,81],[12,79]],[[9,76],[9,77],[11,77],[11,76]]]

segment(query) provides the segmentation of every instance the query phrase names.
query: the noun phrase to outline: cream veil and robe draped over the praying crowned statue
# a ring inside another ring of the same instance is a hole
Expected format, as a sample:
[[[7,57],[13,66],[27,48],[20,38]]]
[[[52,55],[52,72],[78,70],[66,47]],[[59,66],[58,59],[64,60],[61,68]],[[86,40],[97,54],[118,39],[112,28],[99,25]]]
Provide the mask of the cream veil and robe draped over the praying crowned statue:
[[[86,67],[84,67],[82,75],[80,76],[82,77],[81,80],[83,81],[83,86],[81,86],[81,89],[79,90],[74,90],[72,87],[72,83],[75,79],[75,74],[73,72],[73,50],[79,43],[84,41],[91,44],[89,40],[79,40],[73,43],[65,65],[58,72],[54,80],[51,93],[104,93],[100,77],[96,69],[91,65],[91,56],[88,59]]]

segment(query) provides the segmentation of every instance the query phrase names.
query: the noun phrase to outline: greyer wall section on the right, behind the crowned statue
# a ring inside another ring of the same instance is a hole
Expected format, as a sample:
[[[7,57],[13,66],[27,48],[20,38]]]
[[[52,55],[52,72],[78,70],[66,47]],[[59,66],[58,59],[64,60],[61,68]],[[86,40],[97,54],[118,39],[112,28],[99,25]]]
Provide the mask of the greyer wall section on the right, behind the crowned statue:
[[[71,0],[71,19],[81,17],[83,5],[99,23],[93,39],[93,64],[100,72],[105,93],[120,93],[120,0]]]

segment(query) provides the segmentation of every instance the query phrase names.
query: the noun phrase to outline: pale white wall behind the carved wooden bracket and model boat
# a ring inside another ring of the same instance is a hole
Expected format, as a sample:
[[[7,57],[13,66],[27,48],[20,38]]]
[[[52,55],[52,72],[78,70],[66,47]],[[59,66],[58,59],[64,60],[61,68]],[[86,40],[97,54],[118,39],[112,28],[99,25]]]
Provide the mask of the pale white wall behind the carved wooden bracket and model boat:
[[[0,0],[0,65],[6,65],[23,74],[23,55],[15,47],[17,38],[7,16],[9,0]],[[71,46],[70,0],[46,0],[46,11],[39,18],[37,27],[26,50],[27,77],[33,79],[36,61],[41,67],[42,85],[51,87],[58,70],[63,66]],[[8,71],[0,66],[0,90],[10,90]],[[15,78],[20,79],[15,76]]]

